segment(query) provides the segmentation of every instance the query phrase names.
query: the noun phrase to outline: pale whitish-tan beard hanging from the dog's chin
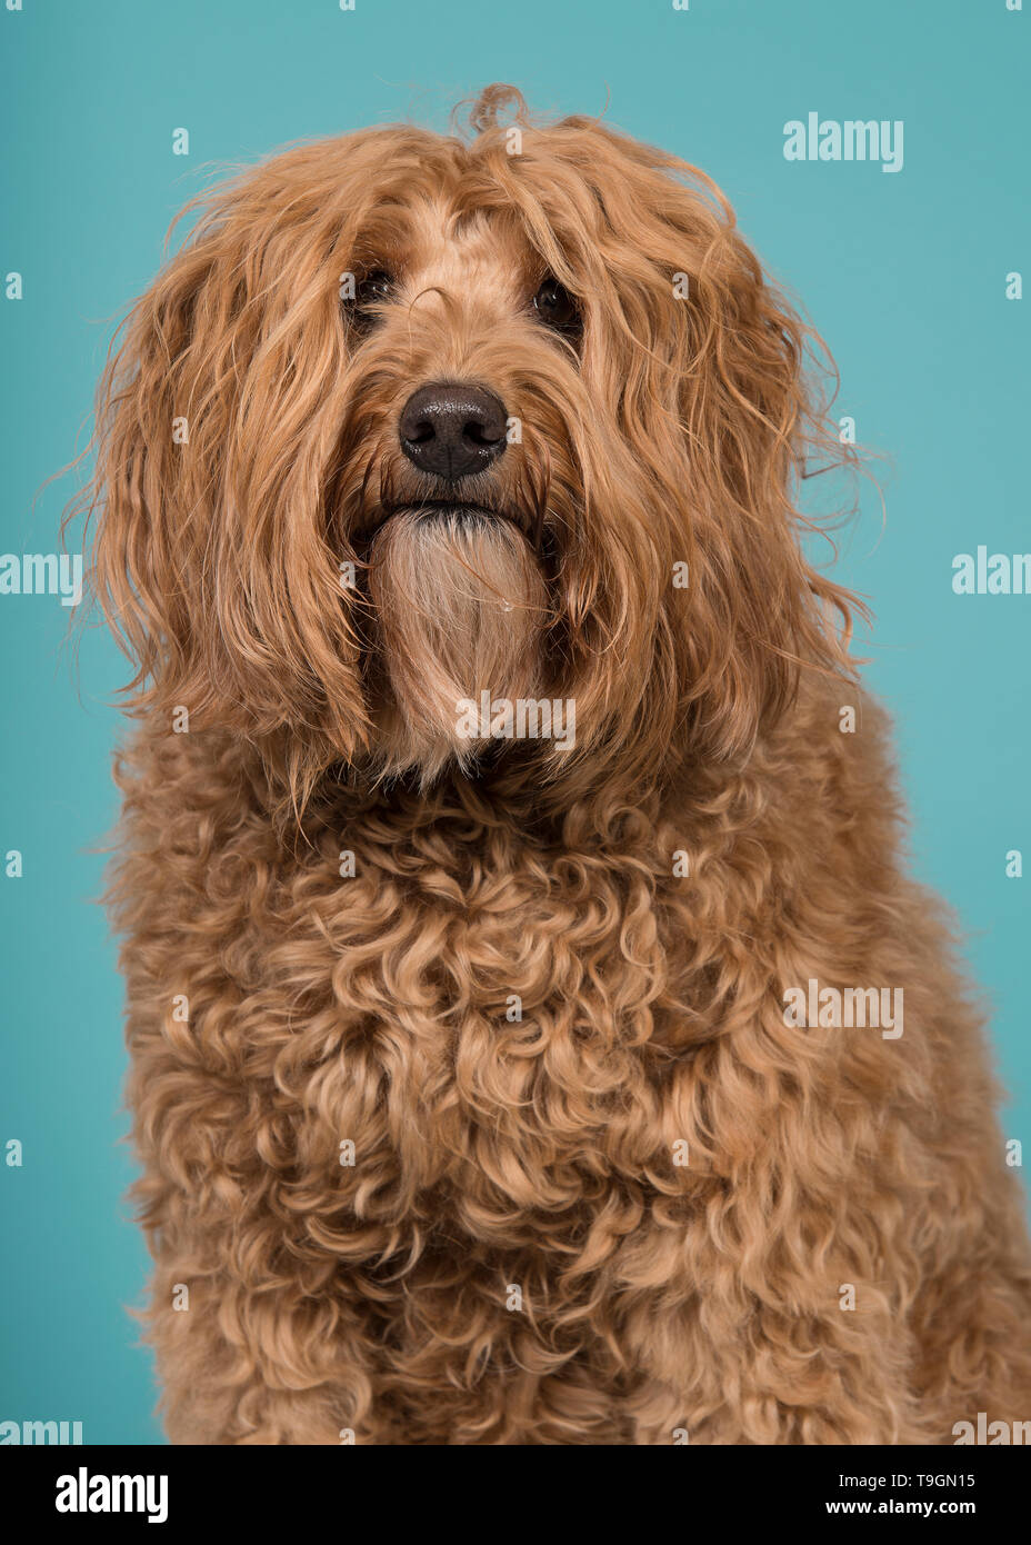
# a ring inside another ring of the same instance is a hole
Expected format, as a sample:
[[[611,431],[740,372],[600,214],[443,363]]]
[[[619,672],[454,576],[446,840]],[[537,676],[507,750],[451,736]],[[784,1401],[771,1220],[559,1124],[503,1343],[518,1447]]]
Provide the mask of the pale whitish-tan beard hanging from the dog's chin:
[[[372,544],[369,595],[386,677],[381,769],[417,769],[426,783],[451,760],[468,768],[486,728],[469,732],[468,705],[540,686],[548,592],[529,544],[486,514],[401,511]]]

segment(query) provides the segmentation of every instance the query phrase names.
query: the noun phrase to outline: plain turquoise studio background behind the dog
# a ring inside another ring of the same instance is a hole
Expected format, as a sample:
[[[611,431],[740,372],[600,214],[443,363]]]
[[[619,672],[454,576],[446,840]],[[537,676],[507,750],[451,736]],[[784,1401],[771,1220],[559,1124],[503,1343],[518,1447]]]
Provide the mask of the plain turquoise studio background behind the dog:
[[[79,480],[40,493],[85,443],[113,321],[161,261],[211,162],[449,108],[489,80],[543,113],[597,113],[710,171],[769,269],[804,298],[843,379],[840,413],[884,451],[838,576],[877,612],[867,680],[898,726],[914,864],[958,908],[996,1006],[1008,1136],[1028,1136],[1026,768],[1031,598],[954,596],[951,561],[1031,548],[1026,49],[1005,0],[0,0],[2,552],[57,550]],[[789,164],[783,127],[904,121],[904,170]],[[171,154],[190,130],[188,159]],[[39,497],[35,497],[39,494]],[[35,501],[35,502],[34,502]],[[161,1441],[148,1357],[125,1307],[145,1251],[117,1140],[122,989],[96,851],[116,805],[122,680],[97,630],[73,658],[68,610],[0,596],[0,1418],[68,1418],[85,1440]]]

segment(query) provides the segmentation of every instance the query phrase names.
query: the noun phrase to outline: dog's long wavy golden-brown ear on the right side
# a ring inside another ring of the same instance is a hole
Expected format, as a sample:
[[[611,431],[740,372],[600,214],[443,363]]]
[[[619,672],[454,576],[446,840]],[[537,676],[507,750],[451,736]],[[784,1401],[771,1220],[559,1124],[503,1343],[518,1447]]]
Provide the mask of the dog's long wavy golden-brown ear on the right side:
[[[667,527],[648,539],[673,569],[679,720],[705,756],[735,756],[792,700],[799,671],[847,672],[850,612],[863,610],[801,545],[799,465],[850,457],[807,369],[821,345],[708,178],[588,121],[559,133],[594,195],[586,239],[573,221],[562,233],[588,273],[590,389],[614,403]]]

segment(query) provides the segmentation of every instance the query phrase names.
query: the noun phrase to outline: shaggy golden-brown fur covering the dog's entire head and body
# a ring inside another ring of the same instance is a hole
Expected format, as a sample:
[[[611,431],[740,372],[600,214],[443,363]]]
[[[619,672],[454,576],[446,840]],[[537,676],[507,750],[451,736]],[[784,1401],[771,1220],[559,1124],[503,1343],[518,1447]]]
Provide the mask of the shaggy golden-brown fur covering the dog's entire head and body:
[[[100,392],[168,1432],[1028,1418],[982,1015],[799,545],[841,454],[807,331],[691,167],[471,117],[219,188]],[[508,420],[451,484],[398,439],[437,382]],[[576,745],[461,740],[482,691],[574,700]],[[790,1026],[810,980],[903,989],[904,1034]]]

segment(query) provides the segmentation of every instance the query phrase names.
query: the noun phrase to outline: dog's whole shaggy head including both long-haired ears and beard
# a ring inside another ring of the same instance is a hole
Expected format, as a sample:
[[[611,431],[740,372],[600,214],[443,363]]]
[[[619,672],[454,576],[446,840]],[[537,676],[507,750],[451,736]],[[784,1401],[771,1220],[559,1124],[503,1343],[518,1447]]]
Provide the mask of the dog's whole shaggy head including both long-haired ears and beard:
[[[792,502],[806,329],[701,173],[505,87],[472,124],[276,156],[134,307],[94,564],[137,708],[309,786],[739,756],[843,660]]]

